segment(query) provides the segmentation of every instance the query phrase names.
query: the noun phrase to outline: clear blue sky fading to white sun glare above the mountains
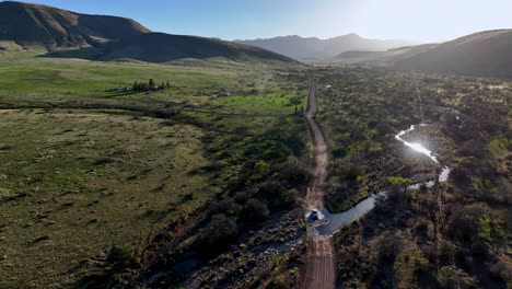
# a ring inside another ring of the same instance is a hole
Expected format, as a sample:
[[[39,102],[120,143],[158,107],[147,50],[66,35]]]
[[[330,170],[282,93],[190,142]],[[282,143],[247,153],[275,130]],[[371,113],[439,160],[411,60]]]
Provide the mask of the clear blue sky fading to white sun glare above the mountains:
[[[438,42],[512,27],[512,0],[33,0],[132,18],[173,34],[248,39],[280,35]]]

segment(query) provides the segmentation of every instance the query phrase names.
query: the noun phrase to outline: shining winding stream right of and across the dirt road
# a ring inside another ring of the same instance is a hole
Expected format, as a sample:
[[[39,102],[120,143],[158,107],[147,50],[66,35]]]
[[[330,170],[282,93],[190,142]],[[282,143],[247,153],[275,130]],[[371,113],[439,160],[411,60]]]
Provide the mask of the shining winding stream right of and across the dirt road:
[[[423,124],[419,126],[426,126]],[[395,139],[404,143],[404,146],[415,150],[418,153],[427,155],[430,160],[433,162],[442,165],[438,158],[432,153],[432,151],[428,150],[424,148],[421,143],[418,142],[409,142],[403,138],[403,136],[415,130],[418,126],[414,125],[408,129],[402,130],[398,134],[395,135]],[[438,176],[438,182],[443,183],[449,180],[450,176],[450,167],[449,166],[443,166],[441,173]],[[415,190],[419,189],[421,186],[427,186],[427,187],[432,187],[435,185],[435,180],[429,181],[429,182],[423,182],[423,183],[417,183],[414,185],[410,185],[407,187],[407,189]],[[351,209],[340,212],[340,213],[329,213],[327,209],[322,209],[318,213],[318,220],[314,221],[312,226],[315,228],[313,230],[313,234],[317,235],[333,235],[340,229],[349,226],[353,221],[360,219],[364,215],[366,215],[369,211],[371,211],[376,204],[377,198],[380,197],[386,197],[387,192],[381,192],[377,194],[374,194],[362,201],[358,203],[356,206],[353,206]]]

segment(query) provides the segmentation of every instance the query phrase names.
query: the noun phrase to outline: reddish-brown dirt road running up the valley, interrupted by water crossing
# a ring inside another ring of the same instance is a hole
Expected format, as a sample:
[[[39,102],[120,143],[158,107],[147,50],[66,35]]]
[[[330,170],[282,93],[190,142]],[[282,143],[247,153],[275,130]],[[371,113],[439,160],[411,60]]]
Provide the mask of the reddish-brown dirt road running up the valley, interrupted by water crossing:
[[[316,103],[316,83],[312,82],[310,86],[310,96],[307,99],[307,111],[305,119],[313,139],[315,166],[313,169],[313,181],[307,188],[307,195],[304,199],[306,216],[312,210],[322,210],[324,208],[324,186],[327,176],[327,143],[324,131],[315,120],[318,112]],[[302,281],[304,289],[331,289],[335,288],[335,253],[331,236],[319,235],[314,228],[309,228],[310,240],[307,246],[307,256],[305,264],[305,275]]]

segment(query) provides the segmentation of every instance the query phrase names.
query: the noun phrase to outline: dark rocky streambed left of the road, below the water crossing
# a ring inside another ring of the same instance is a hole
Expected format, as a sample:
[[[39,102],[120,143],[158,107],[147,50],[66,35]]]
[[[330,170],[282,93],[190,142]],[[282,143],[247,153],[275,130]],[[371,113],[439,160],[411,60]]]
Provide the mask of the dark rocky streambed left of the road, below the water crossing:
[[[305,229],[301,209],[277,215],[260,230],[248,232],[225,253],[210,261],[199,261],[202,264],[190,268],[187,279],[178,288],[246,288],[247,284],[278,267],[288,254],[303,245]],[[295,270],[299,275],[299,268]],[[174,280],[167,276],[164,271],[155,275],[151,285],[168,288]]]

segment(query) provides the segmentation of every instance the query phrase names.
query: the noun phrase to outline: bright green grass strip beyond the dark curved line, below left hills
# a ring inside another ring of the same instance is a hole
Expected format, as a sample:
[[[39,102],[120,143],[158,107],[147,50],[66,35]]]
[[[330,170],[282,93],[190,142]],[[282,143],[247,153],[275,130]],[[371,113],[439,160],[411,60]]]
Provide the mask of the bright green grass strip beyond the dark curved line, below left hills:
[[[98,62],[81,59],[44,58],[23,53],[0,55],[0,97],[60,96],[65,99],[101,97],[140,100],[141,92],[107,92],[135,82],[154,79],[172,88],[152,95],[153,99],[188,102],[196,105],[225,105],[249,109],[292,112],[292,100],[300,95],[292,85],[284,86],[271,78],[277,71],[266,67],[232,67],[231,69],[185,67],[146,62]],[[209,95],[212,91],[230,91],[230,100]],[[243,97],[248,95],[251,97]]]

